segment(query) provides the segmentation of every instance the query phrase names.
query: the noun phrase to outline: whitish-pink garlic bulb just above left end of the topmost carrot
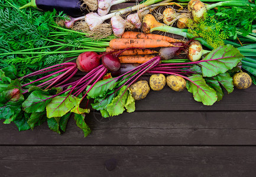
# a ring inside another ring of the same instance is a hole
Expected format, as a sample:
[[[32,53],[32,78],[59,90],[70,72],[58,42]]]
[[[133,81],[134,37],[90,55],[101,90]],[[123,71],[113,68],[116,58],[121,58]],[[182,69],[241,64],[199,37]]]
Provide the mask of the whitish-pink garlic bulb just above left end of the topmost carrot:
[[[111,18],[111,26],[113,33],[116,37],[121,37],[125,31],[125,19],[120,17],[120,15],[115,15]]]

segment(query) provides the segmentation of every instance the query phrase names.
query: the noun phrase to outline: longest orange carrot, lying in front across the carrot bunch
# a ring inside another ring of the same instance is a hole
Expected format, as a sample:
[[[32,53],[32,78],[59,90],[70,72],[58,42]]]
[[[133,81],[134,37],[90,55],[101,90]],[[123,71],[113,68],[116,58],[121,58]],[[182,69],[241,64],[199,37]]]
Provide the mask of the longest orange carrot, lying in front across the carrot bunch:
[[[124,39],[116,38],[109,42],[109,47],[113,49],[135,48],[156,48],[156,47],[177,47],[167,41],[155,39]],[[181,47],[181,46],[179,46]]]

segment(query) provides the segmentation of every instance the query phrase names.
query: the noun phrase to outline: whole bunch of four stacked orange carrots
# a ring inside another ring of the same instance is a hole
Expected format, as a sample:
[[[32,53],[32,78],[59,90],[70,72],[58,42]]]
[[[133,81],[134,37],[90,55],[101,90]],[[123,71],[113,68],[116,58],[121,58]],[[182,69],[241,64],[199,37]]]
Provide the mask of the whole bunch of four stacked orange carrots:
[[[124,64],[142,64],[151,58],[154,58],[158,54],[157,51],[148,48],[177,47],[176,45],[171,44],[175,42],[181,41],[158,34],[144,34],[142,32],[126,31],[121,38],[111,40],[106,51],[135,48],[125,50],[118,58],[120,62]],[[116,51],[116,53],[118,53],[118,51]]]

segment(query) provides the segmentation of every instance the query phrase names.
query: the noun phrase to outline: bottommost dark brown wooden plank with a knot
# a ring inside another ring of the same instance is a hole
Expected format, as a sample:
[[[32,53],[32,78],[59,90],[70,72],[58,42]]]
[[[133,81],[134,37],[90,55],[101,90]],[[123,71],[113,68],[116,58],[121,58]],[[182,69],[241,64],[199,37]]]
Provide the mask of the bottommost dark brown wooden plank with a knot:
[[[1,146],[0,154],[1,176],[182,177],[256,173],[256,147],[248,146]],[[116,160],[112,171],[105,167],[109,159]]]

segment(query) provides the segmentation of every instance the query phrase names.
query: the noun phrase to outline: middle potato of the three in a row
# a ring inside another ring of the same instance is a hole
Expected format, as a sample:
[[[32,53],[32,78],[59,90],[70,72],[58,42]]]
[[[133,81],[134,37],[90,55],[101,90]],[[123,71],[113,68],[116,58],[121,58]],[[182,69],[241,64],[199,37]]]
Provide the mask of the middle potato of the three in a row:
[[[153,74],[150,76],[150,88],[155,91],[160,91],[166,85],[166,77],[164,74]]]

